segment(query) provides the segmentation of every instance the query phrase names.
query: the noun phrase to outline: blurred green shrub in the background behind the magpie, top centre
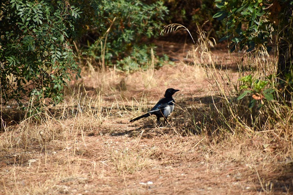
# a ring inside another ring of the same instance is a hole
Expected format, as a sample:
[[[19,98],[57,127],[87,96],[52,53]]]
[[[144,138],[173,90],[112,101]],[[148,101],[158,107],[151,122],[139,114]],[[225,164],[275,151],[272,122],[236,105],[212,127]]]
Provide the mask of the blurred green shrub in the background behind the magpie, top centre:
[[[88,56],[100,61],[101,66],[116,64],[124,71],[144,69],[154,48],[149,42],[160,35],[167,13],[161,1],[150,4],[141,0],[106,2],[102,15],[108,20],[105,29],[109,30],[89,45]]]

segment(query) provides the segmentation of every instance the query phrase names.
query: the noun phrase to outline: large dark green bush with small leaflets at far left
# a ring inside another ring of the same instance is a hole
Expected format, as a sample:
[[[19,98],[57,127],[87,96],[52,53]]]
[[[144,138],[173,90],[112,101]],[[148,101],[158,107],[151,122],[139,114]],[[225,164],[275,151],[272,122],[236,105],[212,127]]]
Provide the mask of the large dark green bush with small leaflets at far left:
[[[100,0],[1,1],[1,103],[60,102],[63,86],[81,72],[72,41],[85,25],[98,26],[100,6]]]

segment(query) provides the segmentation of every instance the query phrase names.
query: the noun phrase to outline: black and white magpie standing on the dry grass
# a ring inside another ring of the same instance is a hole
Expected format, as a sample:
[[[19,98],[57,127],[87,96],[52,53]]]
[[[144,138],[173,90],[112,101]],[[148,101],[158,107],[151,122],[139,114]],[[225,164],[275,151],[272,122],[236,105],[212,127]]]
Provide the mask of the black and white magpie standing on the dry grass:
[[[164,117],[164,123],[168,122],[167,117],[173,112],[174,110],[174,104],[175,100],[172,98],[172,95],[175,94],[175,92],[178,92],[180,90],[169,88],[166,90],[164,97],[158,101],[158,103],[150,109],[146,114],[133,118],[129,120],[129,122],[133,122],[136,120],[139,120],[141,118],[149,117],[151,115],[155,115],[157,117],[157,123],[160,122],[160,117]]]

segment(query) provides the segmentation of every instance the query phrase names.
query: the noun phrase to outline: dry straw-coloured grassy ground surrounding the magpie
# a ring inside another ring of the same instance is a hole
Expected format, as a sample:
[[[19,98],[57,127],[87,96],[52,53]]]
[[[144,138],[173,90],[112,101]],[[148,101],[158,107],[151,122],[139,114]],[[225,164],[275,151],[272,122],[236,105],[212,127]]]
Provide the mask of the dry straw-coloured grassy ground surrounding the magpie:
[[[292,108],[275,106],[262,131],[253,127],[245,105],[231,101],[235,70],[247,64],[215,52],[205,61],[199,51],[194,65],[84,70],[40,122],[4,125],[0,194],[292,194]],[[170,124],[128,122],[168,87],[181,90]]]

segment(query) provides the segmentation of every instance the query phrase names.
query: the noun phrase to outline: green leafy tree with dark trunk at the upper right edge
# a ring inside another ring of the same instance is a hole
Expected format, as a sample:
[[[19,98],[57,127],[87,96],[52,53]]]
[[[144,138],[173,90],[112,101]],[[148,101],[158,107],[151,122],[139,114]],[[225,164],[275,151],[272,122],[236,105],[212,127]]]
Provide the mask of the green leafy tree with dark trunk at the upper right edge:
[[[225,20],[230,50],[267,53],[278,48],[276,77],[287,100],[293,95],[293,0],[215,0]]]

